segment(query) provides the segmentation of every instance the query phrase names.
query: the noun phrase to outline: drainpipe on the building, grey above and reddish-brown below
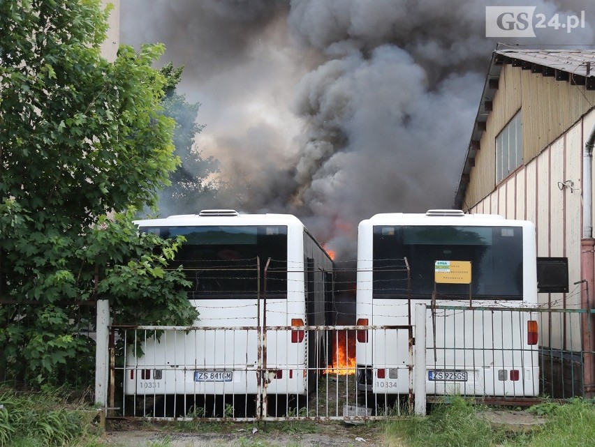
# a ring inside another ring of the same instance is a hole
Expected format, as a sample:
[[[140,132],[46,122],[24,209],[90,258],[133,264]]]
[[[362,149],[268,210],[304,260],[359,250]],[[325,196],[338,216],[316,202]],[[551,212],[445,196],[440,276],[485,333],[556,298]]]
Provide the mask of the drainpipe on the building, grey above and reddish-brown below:
[[[581,308],[590,310],[593,306],[592,295],[595,291],[595,239],[593,238],[593,147],[595,146],[595,126],[585,143],[585,151],[582,153],[582,239],[580,241],[580,266],[582,280],[586,282],[585,290],[581,294]],[[595,395],[595,331],[594,315],[585,314],[582,318],[582,351],[584,353],[583,363],[583,386],[585,397],[592,398]]]

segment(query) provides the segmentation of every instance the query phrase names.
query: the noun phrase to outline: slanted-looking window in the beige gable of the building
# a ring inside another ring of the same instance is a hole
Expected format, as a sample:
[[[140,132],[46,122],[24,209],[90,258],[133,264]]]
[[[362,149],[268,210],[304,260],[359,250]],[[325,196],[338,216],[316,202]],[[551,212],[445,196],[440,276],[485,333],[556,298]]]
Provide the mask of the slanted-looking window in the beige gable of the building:
[[[522,164],[521,121],[519,110],[496,137],[496,183]]]

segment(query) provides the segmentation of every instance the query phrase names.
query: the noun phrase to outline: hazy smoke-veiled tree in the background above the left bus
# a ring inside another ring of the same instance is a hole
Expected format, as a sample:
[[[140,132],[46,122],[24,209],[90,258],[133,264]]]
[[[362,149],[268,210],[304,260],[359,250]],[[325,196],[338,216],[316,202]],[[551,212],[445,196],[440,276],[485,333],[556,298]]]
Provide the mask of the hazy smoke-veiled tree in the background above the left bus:
[[[195,137],[205,126],[196,123],[200,103],[188,103],[176,87],[184,67],[174,68],[166,63],[161,74],[166,77],[163,114],[174,119],[175,154],[182,161],[170,174],[171,185],[161,193],[161,209],[167,213],[198,213],[198,202],[214,202],[217,184],[210,181],[211,174],[219,172],[219,162],[213,157],[203,158],[196,146]]]

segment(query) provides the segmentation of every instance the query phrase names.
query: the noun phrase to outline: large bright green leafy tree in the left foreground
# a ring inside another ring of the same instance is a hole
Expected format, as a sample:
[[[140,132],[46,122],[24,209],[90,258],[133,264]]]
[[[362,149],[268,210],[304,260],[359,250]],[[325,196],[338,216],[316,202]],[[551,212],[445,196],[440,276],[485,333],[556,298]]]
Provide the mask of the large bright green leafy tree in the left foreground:
[[[99,0],[0,1],[0,381],[61,380],[91,355],[82,302],[110,298],[121,322],[196,318],[167,269],[179,241],[133,225],[179,164],[163,47],[106,61],[107,15]]]

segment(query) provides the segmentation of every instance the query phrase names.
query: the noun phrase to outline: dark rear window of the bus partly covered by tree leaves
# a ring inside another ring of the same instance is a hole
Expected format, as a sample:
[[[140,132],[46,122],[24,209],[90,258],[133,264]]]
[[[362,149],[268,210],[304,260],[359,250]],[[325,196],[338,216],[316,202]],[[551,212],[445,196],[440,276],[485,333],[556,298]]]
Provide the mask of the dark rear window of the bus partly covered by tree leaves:
[[[140,227],[163,238],[182,235],[186,242],[172,268],[182,265],[192,282],[189,299],[287,296],[287,227],[196,226]],[[265,265],[270,260],[265,284]],[[260,259],[260,270],[257,259]]]

